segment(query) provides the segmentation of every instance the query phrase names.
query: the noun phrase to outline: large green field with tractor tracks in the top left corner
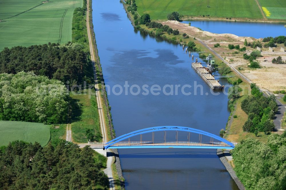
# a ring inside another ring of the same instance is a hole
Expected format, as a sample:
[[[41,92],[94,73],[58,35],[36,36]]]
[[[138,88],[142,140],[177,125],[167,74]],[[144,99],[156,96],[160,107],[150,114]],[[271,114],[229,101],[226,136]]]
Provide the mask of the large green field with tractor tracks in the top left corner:
[[[0,0],[0,50],[72,41],[72,16],[82,0]]]

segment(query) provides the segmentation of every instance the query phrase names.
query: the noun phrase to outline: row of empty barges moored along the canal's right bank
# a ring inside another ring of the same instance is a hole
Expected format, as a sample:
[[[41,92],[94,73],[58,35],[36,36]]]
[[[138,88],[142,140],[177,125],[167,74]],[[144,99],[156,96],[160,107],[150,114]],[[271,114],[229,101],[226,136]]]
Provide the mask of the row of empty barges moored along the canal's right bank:
[[[215,80],[215,78],[206,70],[204,66],[202,66],[201,63],[192,63],[192,68],[194,68],[196,72],[202,77],[202,79],[206,81],[210,88],[216,90],[223,89],[223,86],[219,84],[217,80]]]

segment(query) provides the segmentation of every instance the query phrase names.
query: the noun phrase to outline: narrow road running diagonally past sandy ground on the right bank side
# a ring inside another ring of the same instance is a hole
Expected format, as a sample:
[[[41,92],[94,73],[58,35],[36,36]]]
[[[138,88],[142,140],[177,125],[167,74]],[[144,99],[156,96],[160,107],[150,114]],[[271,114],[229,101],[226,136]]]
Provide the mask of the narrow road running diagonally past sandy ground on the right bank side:
[[[233,71],[235,71],[239,76],[241,76],[241,78],[243,78],[244,80],[246,80],[249,83],[252,83],[251,80],[249,80],[247,77],[245,77],[243,74],[241,74],[235,67],[233,67],[231,64],[229,64],[227,61],[225,61],[217,52],[215,52],[212,48],[208,47],[208,45],[206,45],[206,43],[204,43],[202,40],[197,39],[202,45],[204,45],[204,47],[208,48],[213,54],[215,54],[218,58],[220,58],[225,64],[227,64]],[[268,90],[263,89],[262,92],[267,95],[270,96],[273,93],[269,92]],[[282,118],[283,118],[283,114],[285,112],[285,106],[279,101],[276,100],[277,104],[278,104],[278,113],[276,113],[275,119],[273,120],[273,123],[275,124],[275,129],[279,130],[281,129],[281,122],[282,122]]]

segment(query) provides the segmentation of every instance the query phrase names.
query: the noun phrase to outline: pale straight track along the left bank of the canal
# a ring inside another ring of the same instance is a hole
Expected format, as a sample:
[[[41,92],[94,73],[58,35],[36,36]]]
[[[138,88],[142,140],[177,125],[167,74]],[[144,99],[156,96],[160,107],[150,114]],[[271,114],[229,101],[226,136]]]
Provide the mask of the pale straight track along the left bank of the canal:
[[[93,48],[93,41],[92,41],[92,37],[91,37],[91,32],[90,32],[90,24],[89,24],[89,0],[87,0],[87,14],[86,14],[86,25],[87,25],[87,29],[88,29],[88,41],[89,41],[89,46],[90,46],[90,52],[91,52],[91,60],[94,62],[96,60],[95,56],[94,56],[94,48]],[[94,80],[96,81],[96,72],[95,72],[95,65],[94,65]],[[96,81],[95,84],[95,89],[96,89],[96,101],[97,101],[97,105],[98,105],[98,114],[99,114],[99,118],[100,118],[100,128],[101,128],[101,134],[102,134],[102,141],[103,142],[108,142],[107,139],[107,133],[106,133],[106,126],[105,126],[105,122],[104,122],[104,113],[103,113],[103,109],[102,109],[102,103],[101,103],[101,98],[100,98],[100,92],[99,92],[99,88],[98,88],[98,82]],[[107,150],[110,151],[110,150]],[[109,179],[109,186],[110,189],[114,189],[114,178],[112,175],[112,169],[111,169],[111,165],[113,163],[112,160],[112,154],[107,152],[107,166],[106,169],[104,169],[104,173],[106,173],[106,175],[108,176]]]

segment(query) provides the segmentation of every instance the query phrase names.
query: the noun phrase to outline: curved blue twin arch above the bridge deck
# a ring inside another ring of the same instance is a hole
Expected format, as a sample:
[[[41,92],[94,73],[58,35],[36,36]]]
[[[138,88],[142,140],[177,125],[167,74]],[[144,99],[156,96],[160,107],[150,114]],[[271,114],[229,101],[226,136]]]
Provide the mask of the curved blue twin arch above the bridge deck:
[[[151,132],[158,132],[158,131],[185,131],[185,132],[192,132],[192,133],[197,133],[197,134],[202,134],[205,136],[209,136],[211,138],[214,138],[216,140],[219,140],[221,142],[226,143],[227,145],[231,146],[232,148],[234,147],[234,144],[229,142],[228,140],[225,140],[224,138],[221,138],[220,136],[217,136],[215,134],[211,134],[202,130],[194,129],[194,128],[189,128],[189,127],[181,127],[181,126],[159,126],[159,127],[151,127],[151,128],[146,128],[146,129],[141,129],[137,130],[134,132],[130,132],[128,134],[124,134],[122,136],[119,136],[107,143],[104,144],[104,148],[108,149],[110,146],[112,146],[115,143],[118,143],[122,140],[128,139],[133,136],[137,136],[140,134],[145,134],[145,133],[151,133]]]

